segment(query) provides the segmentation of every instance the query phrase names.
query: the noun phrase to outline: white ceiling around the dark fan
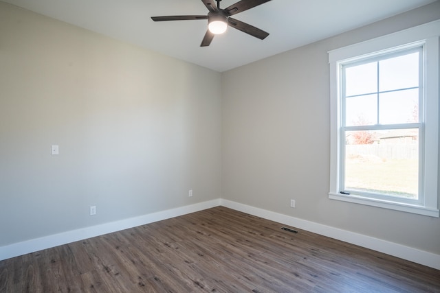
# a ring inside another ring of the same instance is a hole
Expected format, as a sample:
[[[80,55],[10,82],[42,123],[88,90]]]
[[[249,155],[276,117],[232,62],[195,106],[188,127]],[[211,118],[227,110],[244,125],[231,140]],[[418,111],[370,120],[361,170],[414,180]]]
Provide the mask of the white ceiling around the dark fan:
[[[259,40],[230,28],[199,47],[207,21],[151,16],[207,14],[200,0],[1,0],[181,60],[226,71],[335,36],[435,0],[272,0],[233,17],[270,33]],[[238,0],[223,0],[226,8]]]

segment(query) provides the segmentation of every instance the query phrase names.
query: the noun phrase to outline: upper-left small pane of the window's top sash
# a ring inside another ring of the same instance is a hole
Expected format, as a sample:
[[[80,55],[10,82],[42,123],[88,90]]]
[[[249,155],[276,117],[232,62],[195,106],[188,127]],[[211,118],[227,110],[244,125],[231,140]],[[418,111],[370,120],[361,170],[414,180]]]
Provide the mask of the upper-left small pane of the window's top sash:
[[[345,95],[377,92],[377,62],[345,68]]]

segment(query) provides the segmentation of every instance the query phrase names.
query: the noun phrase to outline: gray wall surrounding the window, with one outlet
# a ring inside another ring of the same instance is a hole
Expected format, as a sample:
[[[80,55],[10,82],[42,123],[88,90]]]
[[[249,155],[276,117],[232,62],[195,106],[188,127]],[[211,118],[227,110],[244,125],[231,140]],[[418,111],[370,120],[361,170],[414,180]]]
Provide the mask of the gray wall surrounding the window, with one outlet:
[[[440,254],[439,218],[329,200],[327,54],[439,18],[437,1],[223,73],[223,198]]]

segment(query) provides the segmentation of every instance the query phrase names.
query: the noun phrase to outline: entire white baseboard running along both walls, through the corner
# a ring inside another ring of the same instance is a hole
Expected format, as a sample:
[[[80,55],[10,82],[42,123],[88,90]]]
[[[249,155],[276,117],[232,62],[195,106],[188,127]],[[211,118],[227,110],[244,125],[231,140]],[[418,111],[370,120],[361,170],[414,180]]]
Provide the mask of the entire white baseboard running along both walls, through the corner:
[[[408,261],[420,263],[423,266],[429,266],[431,268],[440,270],[440,255],[436,255],[434,253],[428,253],[426,251],[416,248],[410,248],[401,244],[388,242],[382,239],[345,231],[339,228],[334,228],[307,220],[301,220],[291,217],[289,215],[283,215],[281,213],[275,213],[273,211],[267,211],[265,209],[259,209],[249,206],[247,204],[241,204],[239,202],[232,202],[230,200],[223,199],[200,202],[198,204],[191,204],[175,209],[168,209],[166,211],[158,211],[156,213],[150,213],[148,215],[142,215],[126,220],[80,228],[73,231],[67,231],[63,233],[49,235],[46,237],[30,239],[24,242],[14,243],[8,246],[1,246],[0,261],[3,259],[9,259],[11,257],[17,257],[19,255],[25,255],[27,253],[34,253],[36,251],[46,248],[80,241],[90,237],[96,237],[107,233],[121,231],[127,228],[133,228],[135,226],[141,226],[152,222],[166,220],[169,218],[177,217],[179,215],[186,215],[187,213],[194,213],[203,209],[210,209],[219,205],[234,209],[236,211],[242,211],[243,213],[256,215],[260,218],[265,218],[267,220],[272,220],[274,222],[279,222],[281,224],[310,231],[312,233],[317,233],[344,242],[376,250],[381,253],[386,253],[387,255],[393,255],[401,259],[406,259]]]

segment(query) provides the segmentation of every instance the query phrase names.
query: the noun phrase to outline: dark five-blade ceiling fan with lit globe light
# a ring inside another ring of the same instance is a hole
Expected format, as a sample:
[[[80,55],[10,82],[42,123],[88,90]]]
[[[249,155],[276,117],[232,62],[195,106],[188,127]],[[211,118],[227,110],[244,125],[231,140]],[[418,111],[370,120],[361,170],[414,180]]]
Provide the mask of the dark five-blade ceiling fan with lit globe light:
[[[214,0],[201,1],[206,8],[208,8],[208,15],[153,16],[151,19],[153,19],[153,21],[192,21],[198,19],[208,19],[208,30],[201,41],[200,47],[209,46],[214,36],[216,34],[223,34],[223,32],[225,32],[228,28],[228,25],[230,27],[234,27],[236,30],[240,30],[241,32],[245,32],[246,34],[250,34],[251,36],[261,40],[269,36],[269,33],[252,25],[248,25],[248,23],[243,23],[242,21],[232,19],[230,16],[250,8],[254,8],[271,0],[241,0],[225,9],[220,8],[221,0],[215,0],[217,1],[217,5]]]

